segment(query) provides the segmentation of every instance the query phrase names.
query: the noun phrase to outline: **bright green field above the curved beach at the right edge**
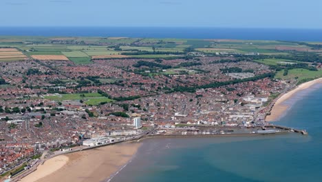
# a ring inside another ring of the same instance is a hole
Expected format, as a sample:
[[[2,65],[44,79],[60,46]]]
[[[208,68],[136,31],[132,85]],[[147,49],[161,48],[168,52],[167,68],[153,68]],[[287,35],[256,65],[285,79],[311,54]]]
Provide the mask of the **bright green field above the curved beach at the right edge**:
[[[298,77],[298,81],[303,79],[317,79],[322,77],[322,70],[319,71],[310,71],[306,69],[292,69],[288,70],[288,75],[283,76],[284,70],[277,72],[275,79],[294,79]]]

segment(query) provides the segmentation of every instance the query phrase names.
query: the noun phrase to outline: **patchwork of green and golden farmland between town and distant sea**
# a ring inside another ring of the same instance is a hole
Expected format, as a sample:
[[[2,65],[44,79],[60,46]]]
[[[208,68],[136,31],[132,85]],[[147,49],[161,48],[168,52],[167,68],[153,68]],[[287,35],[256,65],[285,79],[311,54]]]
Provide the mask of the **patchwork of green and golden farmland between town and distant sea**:
[[[175,59],[189,52],[206,56],[260,54],[264,59],[292,56],[299,52],[319,54],[314,43],[284,41],[243,41],[230,39],[132,39],[127,37],[2,37],[0,61],[23,59],[64,60],[75,64],[94,63],[92,59]],[[17,49],[16,49],[17,48]],[[20,52],[21,50],[21,52]],[[14,56],[14,57],[12,57]],[[56,57],[55,57],[56,56]],[[257,61],[261,62],[261,61]],[[267,65],[277,61],[265,60]]]

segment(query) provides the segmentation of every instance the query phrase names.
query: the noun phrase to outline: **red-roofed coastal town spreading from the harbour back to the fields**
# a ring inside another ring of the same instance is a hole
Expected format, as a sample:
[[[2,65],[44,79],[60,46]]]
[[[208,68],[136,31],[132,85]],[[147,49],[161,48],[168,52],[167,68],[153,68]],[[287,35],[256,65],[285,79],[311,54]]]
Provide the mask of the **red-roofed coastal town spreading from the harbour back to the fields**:
[[[71,52],[56,55],[58,48],[48,46],[46,53],[37,52],[45,47],[38,43],[27,43],[27,48],[0,48],[3,179],[21,177],[59,154],[144,136],[289,132],[288,128],[276,128],[266,122],[266,117],[282,94],[321,73],[319,61],[272,58],[269,54],[234,49],[193,48],[180,41],[175,44],[182,49],[167,50],[155,45],[173,44],[172,41],[48,40],[54,46],[81,47],[72,51],[77,54],[96,46],[99,51],[92,53],[102,55],[93,55],[90,63],[77,63],[72,61],[77,55],[68,57]],[[140,50],[148,46],[152,47],[146,52]],[[299,48],[288,50],[283,46],[277,46],[275,51],[301,52]],[[314,74],[288,77],[293,70]]]

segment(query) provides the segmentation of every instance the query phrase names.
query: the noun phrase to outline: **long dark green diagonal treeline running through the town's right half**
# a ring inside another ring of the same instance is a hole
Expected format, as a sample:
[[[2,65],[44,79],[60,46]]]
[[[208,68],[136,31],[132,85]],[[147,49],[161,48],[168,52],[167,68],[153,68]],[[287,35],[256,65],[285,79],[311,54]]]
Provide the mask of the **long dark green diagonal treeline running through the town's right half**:
[[[219,87],[222,87],[225,85],[233,85],[233,84],[243,83],[243,82],[248,82],[248,81],[257,81],[257,80],[264,79],[267,77],[274,78],[274,76],[275,76],[275,73],[270,72],[270,73],[258,75],[256,77],[250,77],[247,79],[235,79],[232,81],[214,82],[214,83],[209,83],[206,85],[199,85],[199,86],[192,86],[192,87],[177,86],[177,87],[173,88],[173,90],[171,90],[167,93],[171,93],[171,92],[191,92],[191,93],[194,93],[197,89],[219,88]]]

